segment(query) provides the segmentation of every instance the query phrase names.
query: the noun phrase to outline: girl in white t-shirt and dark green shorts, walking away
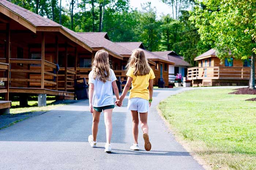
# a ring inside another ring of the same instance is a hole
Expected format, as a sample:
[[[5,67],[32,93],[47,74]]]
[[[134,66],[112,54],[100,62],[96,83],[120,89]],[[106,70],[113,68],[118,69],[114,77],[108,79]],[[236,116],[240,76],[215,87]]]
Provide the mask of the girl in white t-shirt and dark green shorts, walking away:
[[[113,90],[116,98],[119,99],[119,92],[116,84],[116,75],[110,69],[109,54],[105,50],[96,52],[92,71],[89,74],[89,104],[93,114],[92,135],[88,137],[91,147],[97,146],[97,133],[99,117],[103,110],[106,126],[105,152],[111,153],[110,145],[112,135],[112,112],[114,108]],[[113,90],[112,90],[113,89]]]

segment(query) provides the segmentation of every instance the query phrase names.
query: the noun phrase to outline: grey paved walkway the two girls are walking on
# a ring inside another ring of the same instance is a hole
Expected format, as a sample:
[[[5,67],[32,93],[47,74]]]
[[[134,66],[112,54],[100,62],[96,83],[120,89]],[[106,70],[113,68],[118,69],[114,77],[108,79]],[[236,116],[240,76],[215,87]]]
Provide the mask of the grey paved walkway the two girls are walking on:
[[[99,123],[98,148],[87,142],[92,116],[88,100],[65,105],[0,130],[0,169],[17,170],[200,170],[203,169],[172,134],[157,113],[157,104],[170,95],[192,88],[154,90],[148,124],[152,150],[129,150],[133,142],[127,98],[113,112],[113,153],[104,153],[105,126]]]

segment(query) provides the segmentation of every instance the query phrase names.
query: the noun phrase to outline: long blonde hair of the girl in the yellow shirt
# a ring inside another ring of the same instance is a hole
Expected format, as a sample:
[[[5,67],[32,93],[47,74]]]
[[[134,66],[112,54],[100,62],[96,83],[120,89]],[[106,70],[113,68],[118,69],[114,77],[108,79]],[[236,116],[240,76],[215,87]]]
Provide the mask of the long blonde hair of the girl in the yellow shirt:
[[[132,55],[129,58],[126,68],[127,70],[129,70],[129,68],[134,68],[133,75],[135,76],[149,74],[150,66],[142,49],[135,49],[132,51]]]

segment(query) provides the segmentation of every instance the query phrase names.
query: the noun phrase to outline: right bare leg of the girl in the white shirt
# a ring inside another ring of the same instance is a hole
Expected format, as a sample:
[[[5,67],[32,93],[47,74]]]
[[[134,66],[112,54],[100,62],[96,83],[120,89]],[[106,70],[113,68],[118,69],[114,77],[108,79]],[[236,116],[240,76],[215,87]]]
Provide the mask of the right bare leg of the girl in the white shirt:
[[[104,110],[104,122],[106,126],[106,139],[107,143],[110,144],[112,136],[112,112],[113,108]]]

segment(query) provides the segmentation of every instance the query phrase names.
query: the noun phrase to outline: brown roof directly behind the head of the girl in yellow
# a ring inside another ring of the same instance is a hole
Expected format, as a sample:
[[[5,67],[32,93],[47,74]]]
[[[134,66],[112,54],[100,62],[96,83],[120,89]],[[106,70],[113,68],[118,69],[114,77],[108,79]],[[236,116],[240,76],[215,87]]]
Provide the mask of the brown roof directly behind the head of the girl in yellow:
[[[135,50],[136,48],[141,48],[145,52],[145,55],[146,55],[147,59],[162,60],[164,62],[167,62],[167,63],[170,63],[170,64],[174,64],[174,62],[170,61],[167,58],[164,58],[164,57],[162,57],[160,55],[154,54],[153,52],[145,50],[142,42],[116,42],[116,44],[118,44],[118,45],[120,45],[120,46],[122,46],[124,48],[127,48],[128,50],[131,50],[131,51]]]

